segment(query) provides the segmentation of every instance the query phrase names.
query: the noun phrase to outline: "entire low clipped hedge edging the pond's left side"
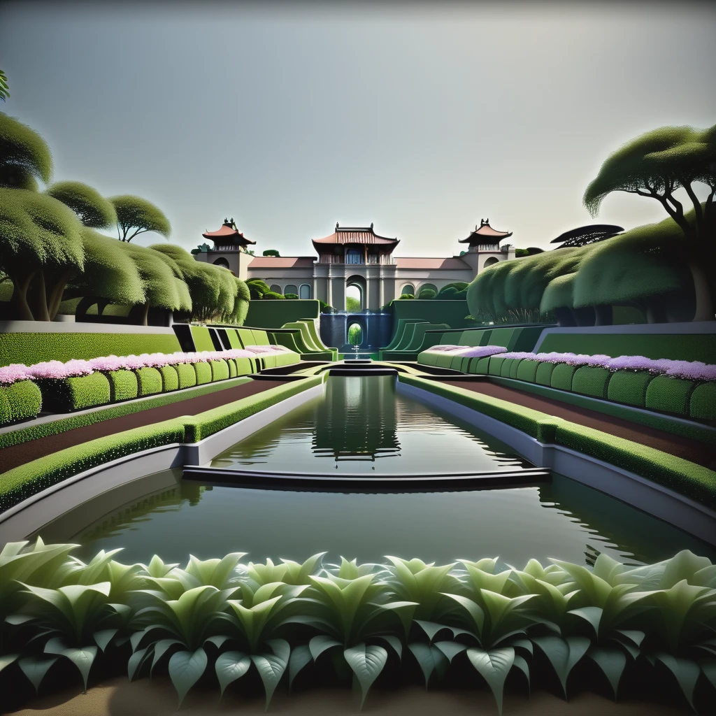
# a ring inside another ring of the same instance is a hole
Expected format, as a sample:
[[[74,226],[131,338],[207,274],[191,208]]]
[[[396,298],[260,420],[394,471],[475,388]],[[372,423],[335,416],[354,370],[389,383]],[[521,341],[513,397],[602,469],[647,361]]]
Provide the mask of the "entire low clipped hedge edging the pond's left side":
[[[139,453],[142,450],[171,445],[175,442],[198,442],[233,423],[254,415],[266,407],[276,405],[314,385],[322,377],[291,381],[285,385],[250,395],[198,415],[183,416],[135,427],[115,435],[98,437],[72,448],[59,450],[44,458],[32,460],[0,475],[0,511],[37,494],[42,490],[97,465],[117,458]]]

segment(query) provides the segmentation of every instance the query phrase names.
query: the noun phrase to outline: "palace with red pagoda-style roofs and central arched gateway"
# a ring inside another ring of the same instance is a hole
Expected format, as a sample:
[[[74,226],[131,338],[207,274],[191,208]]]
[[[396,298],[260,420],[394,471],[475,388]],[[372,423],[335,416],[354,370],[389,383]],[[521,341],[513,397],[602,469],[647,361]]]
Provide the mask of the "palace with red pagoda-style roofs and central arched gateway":
[[[332,234],[313,239],[318,256],[252,256],[247,246],[255,242],[239,233],[232,219],[218,231],[203,234],[214,246],[196,258],[226,266],[240,279],[266,281],[277,293],[321,299],[339,310],[345,309],[346,289],[356,286],[362,308],[373,311],[402,294],[417,296],[426,288],[437,292],[455,281],[470,283],[493,263],[515,258],[514,246],[500,246],[510,236],[509,231],[495,231],[487,219],[458,241],[467,244],[461,256],[405,258],[393,256],[400,239],[380,236],[373,224],[348,227],[336,223]]]

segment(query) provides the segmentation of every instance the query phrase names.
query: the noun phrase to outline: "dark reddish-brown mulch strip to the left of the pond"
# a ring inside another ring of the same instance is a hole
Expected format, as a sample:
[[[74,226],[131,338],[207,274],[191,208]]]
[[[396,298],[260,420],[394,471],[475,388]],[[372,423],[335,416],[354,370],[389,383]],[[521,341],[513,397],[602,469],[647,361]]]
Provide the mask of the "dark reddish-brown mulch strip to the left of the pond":
[[[187,398],[170,405],[160,405],[131,415],[112,417],[110,420],[95,422],[94,425],[75,427],[72,430],[59,432],[57,435],[47,435],[46,437],[39,437],[37,440],[28,440],[27,442],[21,442],[19,445],[11,445],[9,448],[0,450],[0,473],[16,468],[18,465],[29,463],[30,460],[57,453],[57,450],[79,445],[80,442],[95,440],[95,437],[113,435],[115,432],[130,430],[132,427],[141,427],[142,425],[151,425],[153,422],[170,420],[170,418],[179,417],[180,415],[197,415],[197,413],[205,410],[212,410],[234,400],[241,400],[241,398],[249,395],[255,395],[264,390],[285,384],[286,381],[280,379],[252,380],[208,395]]]

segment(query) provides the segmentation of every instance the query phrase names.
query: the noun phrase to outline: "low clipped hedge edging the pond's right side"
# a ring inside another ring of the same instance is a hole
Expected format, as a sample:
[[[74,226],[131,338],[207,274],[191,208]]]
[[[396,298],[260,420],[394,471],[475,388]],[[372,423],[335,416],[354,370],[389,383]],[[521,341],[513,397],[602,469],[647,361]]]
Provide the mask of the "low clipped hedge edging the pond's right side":
[[[535,437],[539,442],[562,445],[604,460],[694,498],[704,505],[716,507],[716,472],[701,465],[506,400],[410,375],[403,374],[398,379],[495,417]]]

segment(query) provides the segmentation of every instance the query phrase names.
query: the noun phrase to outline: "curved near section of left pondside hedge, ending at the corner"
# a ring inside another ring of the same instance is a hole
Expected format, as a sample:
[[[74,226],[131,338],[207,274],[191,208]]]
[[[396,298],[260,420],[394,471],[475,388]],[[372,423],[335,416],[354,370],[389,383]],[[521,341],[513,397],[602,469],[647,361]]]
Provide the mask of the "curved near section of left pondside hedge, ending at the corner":
[[[92,374],[88,377],[95,377]],[[104,376],[102,376],[104,377]],[[105,380],[107,380],[105,378]],[[142,450],[183,442],[184,426],[180,418],[135,427],[115,435],[73,445],[44,458],[32,460],[8,470],[0,480],[0,511],[4,511],[72,475],[109,463]]]

